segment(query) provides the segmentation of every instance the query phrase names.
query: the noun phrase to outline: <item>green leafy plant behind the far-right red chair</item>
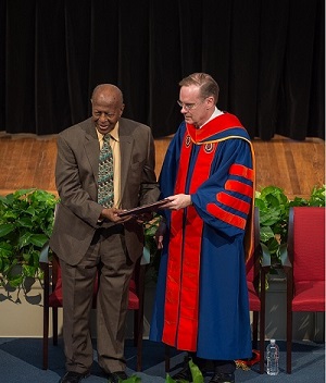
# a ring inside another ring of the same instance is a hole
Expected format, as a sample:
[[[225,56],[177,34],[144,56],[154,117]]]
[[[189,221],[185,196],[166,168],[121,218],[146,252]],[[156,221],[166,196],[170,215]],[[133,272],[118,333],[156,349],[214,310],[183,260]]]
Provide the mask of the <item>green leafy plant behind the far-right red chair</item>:
[[[288,219],[290,207],[325,206],[325,185],[314,187],[310,199],[296,197],[289,200],[277,186],[267,186],[255,194],[260,210],[260,236],[263,251],[271,256],[272,270],[281,264],[287,251]]]

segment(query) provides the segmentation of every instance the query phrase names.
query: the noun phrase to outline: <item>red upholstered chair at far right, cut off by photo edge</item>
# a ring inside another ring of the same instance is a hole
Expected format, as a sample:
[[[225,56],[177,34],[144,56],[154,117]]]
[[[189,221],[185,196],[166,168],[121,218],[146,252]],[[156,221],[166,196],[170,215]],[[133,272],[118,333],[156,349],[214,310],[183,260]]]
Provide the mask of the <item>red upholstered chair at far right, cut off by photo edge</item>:
[[[290,208],[288,260],[284,267],[287,273],[287,373],[291,373],[292,312],[325,312],[325,208]]]

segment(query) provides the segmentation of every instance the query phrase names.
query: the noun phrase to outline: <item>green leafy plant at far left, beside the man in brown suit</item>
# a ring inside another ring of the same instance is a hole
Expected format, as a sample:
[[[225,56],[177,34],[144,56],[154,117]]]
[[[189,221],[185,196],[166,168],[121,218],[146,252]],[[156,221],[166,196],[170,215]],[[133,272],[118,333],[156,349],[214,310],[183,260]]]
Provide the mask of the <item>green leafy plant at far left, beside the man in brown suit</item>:
[[[40,279],[39,252],[49,239],[58,199],[40,189],[0,196],[0,284],[24,293]]]

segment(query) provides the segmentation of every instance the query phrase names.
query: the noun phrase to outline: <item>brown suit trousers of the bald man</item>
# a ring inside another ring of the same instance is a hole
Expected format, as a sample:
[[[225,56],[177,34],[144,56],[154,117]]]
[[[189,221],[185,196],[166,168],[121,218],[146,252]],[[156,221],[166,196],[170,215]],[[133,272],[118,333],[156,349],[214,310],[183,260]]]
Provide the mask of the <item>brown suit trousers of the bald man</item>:
[[[99,365],[105,372],[125,370],[125,322],[134,263],[123,225],[98,228],[82,261],[71,265],[61,260],[61,269],[66,370],[84,373],[91,369],[90,317],[96,281]]]

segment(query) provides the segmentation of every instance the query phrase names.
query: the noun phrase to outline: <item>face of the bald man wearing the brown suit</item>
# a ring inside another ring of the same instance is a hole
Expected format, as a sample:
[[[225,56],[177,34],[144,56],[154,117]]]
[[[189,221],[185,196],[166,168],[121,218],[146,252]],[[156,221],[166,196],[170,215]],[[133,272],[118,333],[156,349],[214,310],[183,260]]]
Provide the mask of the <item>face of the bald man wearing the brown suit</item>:
[[[124,104],[110,95],[96,95],[91,103],[92,120],[99,133],[111,132],[124,110]]]

